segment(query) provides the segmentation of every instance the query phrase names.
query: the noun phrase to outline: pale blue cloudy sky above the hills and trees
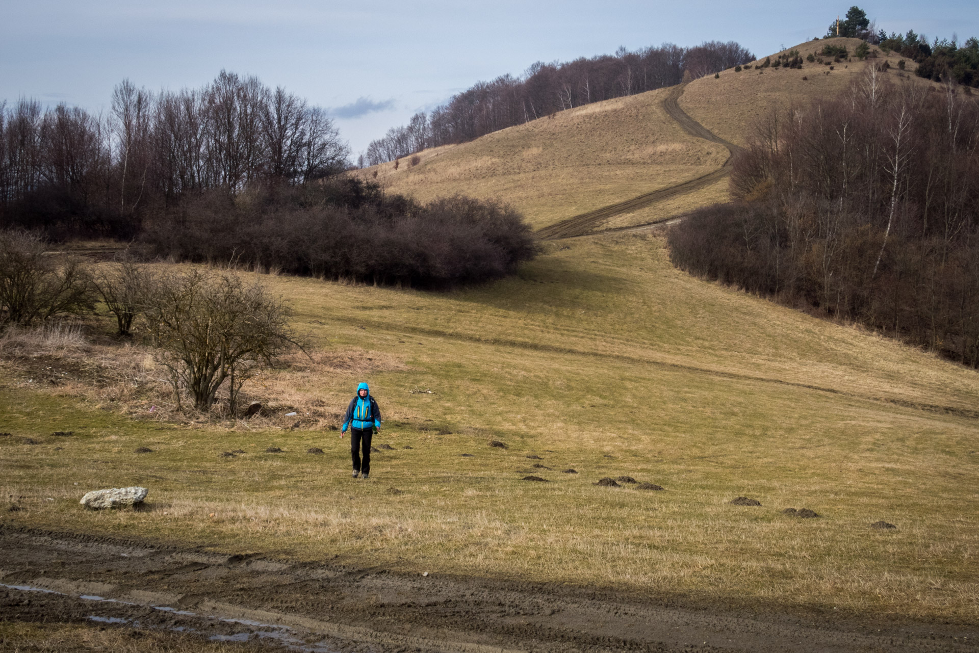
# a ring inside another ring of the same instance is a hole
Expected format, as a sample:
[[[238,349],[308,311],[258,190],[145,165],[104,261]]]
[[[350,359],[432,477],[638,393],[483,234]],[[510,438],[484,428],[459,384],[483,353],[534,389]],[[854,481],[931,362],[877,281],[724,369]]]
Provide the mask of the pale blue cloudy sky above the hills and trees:
[[[761,56],[821,35],[852,1],[0,0],[0,101],[99,112],[125,77],[176,89],[233,70],[331,108],[355,156],[413,113],[536,61],[711,39]],[[979,35],[975,0],[860,6],[888,31]]]

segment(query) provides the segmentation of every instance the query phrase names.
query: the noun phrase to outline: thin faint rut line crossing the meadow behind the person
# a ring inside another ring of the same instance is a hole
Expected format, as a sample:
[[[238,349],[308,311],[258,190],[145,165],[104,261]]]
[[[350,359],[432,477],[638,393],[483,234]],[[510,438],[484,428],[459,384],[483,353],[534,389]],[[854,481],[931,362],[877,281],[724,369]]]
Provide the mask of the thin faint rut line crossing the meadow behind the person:
[[[798,381],[786,381],[784,379],[776,379],[776,378],[765,377],[765,376],[755,376],[753,374],[744,374],[741,372],[728,372],[719,369],[711,369],[709,367],[698,367],[696,365],[687,365],[684,363],[670,362],[667,360],[656,360],[655,358],[630,355],[628,353],[612,353],[608,351],[578,350],[572,347],[561,347],[558,345],[545,345],[542,343],[532,343],[530,341],[513,340],[510,338],[483,338],[476,335],[468,335],[464,333],[445,331],[443,329],[432,329],[429,327],[422,327],[422,326],[408,325],[408,324],[398,324],[396,325],[396,327],[393,327],[391,324],[387,322],[364,319],[362,317],[347,317],[343,315],[333,315],[331,316],[331,319],[338,322],[347,322],[348,324],[356,324],[358,326],[363,326],[366,324],[375,328],[379,328],[385,331],[391,331],[394,333],[413,333],[413,334],[423,335],[423,336],[434,336],[438,338],[448,338],[451,340],[457,340],[463,342],[478,343],[480,345],[491,345],[491,346],[494,345],[499,347],[513,347],[522,350],[547,351],[550,353],[567,353],[571,355],[628,360],[630,362],[644,363],[647,365],[655,365],[658,367],[668,367],[671,369],[681,369],[688,372],[707,374],[710,376],[721,377],[723,379],[736,379],[736,380],[743,380],[743,381],[758,381],[761,383],[771,383],[780,386],[788,386],[790,388],[813,390],[819,393],[829,393],[830,395],[847,396],[855,399],[862,399],[865,401],[877,401],[880,403],[890,403],[893,405],[902,406],[904,408],[911,408],[914,410],[921,410],[924,412],[931,412],[931,413],[938,413],[938,414],[945,414],[945,415],[956,415],[956,417],[964,417],[966,419],[979,420],[979,410],[971,410],[969,408],[961,408],[958,406],[947,406],[947,405],[941,405],[937,403],[924,403],[919,401],[910,401],[909,399],[902,399],[899,397],[891,397],[891,396],[861,395],[859,393],[852,393],[846,390],[827,388],[825,386],[816,386],[808,383],[800,383]]]

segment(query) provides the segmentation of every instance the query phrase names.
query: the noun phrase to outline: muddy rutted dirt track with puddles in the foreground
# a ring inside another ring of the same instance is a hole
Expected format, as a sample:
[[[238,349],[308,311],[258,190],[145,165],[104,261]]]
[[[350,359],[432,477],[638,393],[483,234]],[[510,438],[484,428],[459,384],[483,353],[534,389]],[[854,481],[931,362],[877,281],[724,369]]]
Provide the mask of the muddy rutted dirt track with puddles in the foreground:
[[[979,629],[676,607],[0,527],[0,620],[191,631],[303,651],[977,651]]]

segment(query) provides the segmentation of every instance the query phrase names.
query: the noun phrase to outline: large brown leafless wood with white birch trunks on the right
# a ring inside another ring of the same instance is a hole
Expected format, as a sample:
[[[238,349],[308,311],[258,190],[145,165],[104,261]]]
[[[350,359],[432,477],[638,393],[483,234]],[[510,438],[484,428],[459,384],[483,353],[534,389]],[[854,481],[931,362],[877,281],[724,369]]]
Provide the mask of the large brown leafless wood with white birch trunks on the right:
[[[979,366],[979,104],[872,68],[770,117],[734,205],[669,236],[676,265]]]

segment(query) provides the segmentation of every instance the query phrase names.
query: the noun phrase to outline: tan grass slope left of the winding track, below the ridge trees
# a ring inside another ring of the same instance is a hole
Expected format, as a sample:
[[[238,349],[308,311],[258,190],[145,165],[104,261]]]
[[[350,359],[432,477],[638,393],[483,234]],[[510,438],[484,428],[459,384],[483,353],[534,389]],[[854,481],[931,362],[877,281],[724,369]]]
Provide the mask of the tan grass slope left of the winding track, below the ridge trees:
[[[714,170],[722,146],[685,133],[666,115],[667,89],[617,98],[497,131],[470,143],[359,170],[419,201],[460,193],[497,198],[536,228]]]

